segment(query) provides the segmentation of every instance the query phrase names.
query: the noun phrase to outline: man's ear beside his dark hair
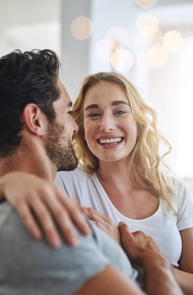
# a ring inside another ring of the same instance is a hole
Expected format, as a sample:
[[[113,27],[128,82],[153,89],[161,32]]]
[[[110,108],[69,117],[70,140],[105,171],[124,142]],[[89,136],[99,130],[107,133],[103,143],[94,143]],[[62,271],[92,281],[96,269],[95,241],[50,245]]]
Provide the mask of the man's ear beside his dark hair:
[[[31,133],[42,136],[46,131],[45,115],[34,103],[29,103],[24,108],[22,120]]]

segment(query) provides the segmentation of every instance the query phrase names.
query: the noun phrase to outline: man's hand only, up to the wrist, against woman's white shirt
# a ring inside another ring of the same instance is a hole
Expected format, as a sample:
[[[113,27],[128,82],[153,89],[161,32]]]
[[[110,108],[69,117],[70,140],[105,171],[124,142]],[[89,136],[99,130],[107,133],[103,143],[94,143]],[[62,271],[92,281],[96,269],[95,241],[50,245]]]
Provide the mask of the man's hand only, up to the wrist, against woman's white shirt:
[[[155,259],[157,256],[164,258],[151,236],[146,236],[139,231],[131,234],[129,227],[124,222],[119,222],[118,227],[123,249],[132,264],[143,267],[147,259]]]

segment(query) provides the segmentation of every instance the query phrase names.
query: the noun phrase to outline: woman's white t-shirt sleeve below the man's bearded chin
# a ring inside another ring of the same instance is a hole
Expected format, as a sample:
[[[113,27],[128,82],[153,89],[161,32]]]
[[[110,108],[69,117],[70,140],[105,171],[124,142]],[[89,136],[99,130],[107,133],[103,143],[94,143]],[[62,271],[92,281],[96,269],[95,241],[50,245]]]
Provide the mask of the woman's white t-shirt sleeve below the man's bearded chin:
[[[82,205],[84,173],[81,169],[57,172],[55,184],[65,190],[70,198]]]

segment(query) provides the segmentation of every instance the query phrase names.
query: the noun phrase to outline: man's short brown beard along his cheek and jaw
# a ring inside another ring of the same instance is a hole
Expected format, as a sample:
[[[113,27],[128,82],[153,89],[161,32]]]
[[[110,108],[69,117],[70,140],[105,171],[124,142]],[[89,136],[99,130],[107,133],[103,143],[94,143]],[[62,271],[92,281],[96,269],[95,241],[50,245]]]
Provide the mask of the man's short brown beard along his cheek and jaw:
[[[57,171],[72,171],[78,166],[78,159],[72,146],[72,139],[65,137],[63,125],[53,121],[49,124],[45,148]]]

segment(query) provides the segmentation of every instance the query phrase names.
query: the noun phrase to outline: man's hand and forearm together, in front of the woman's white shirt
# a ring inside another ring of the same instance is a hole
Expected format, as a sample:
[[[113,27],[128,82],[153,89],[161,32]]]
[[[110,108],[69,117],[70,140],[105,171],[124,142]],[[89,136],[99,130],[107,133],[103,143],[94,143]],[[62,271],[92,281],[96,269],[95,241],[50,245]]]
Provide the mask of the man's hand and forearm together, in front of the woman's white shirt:
[[[124,222],[119,222],[123,249],[133,265],[144,271],[144,290],[148,295],[183,295],[169,261],[161,253],[154,239],[143,232],[130,233]]]

